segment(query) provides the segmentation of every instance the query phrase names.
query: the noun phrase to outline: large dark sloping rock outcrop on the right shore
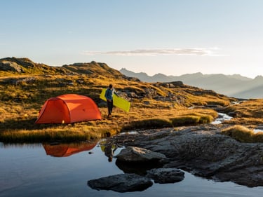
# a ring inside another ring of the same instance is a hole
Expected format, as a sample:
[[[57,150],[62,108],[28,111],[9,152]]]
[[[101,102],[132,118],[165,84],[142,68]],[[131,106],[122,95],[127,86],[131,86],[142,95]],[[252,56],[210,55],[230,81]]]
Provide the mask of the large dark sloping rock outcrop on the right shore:
[[[180,168],[222,182],[263,186],[263,144],[237,142],[222,135],[217,127],[144,130],[121,140],[123,145],[166,155],[163,168]],[[118,136],[114,140],[118,142]]]

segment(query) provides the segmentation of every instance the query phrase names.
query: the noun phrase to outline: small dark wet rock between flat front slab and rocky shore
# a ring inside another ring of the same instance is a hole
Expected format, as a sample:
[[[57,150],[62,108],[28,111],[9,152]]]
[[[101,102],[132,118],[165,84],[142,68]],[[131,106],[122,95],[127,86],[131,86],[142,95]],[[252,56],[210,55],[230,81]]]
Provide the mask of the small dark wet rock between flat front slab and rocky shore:
[[[147,177],[160,184],[175,183],[184,179],[184,172],[177,168],[155,168],[147,171]]]

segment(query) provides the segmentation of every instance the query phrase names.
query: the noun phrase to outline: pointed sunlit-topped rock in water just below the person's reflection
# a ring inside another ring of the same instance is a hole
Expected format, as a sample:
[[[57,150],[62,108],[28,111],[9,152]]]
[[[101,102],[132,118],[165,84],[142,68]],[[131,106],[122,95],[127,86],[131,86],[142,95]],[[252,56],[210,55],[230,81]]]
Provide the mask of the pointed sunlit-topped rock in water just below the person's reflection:
[[[165,159],[166,156],[161,153],[142,149],[139,147],[127,147],[122,149],[121,152],[116,156],[119,161],[133,162],[133,163],[144,163],[151,161],[159,161]]]

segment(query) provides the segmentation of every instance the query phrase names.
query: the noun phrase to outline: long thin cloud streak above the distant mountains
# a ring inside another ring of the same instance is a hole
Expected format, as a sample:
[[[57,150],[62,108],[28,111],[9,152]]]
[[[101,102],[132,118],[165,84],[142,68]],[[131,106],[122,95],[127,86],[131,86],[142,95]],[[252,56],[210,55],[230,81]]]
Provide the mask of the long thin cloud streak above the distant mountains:
[[[116,51],[83,51],[84,55],[123,55],[123,56],[156,56],[156,55],[215,55],[218,48],[157,48]]]

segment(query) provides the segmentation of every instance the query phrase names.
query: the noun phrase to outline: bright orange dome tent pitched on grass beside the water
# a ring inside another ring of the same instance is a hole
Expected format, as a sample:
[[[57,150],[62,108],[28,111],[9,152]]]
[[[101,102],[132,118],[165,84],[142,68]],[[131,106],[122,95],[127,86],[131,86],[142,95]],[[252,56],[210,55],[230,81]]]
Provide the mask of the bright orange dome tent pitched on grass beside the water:
[[[75,123],[101,118],[97,104],[90,97],[68,94],[48,99],[36,123]]]

